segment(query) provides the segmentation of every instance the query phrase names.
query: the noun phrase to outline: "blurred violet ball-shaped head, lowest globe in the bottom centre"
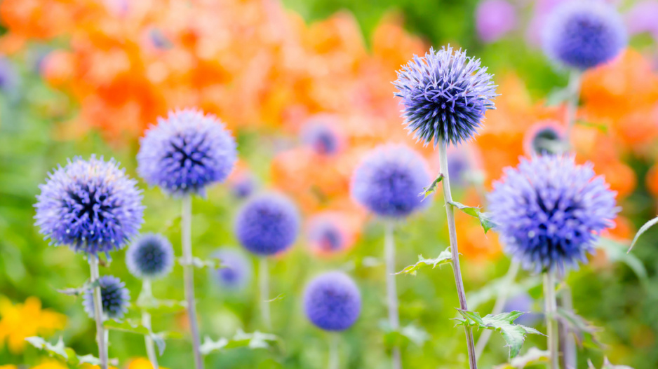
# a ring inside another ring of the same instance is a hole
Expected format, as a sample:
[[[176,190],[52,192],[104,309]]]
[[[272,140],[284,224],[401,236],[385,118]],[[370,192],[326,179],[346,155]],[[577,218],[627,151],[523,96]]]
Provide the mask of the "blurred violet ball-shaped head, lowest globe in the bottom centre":
[[[361,293],[347,274],[327,272],[307,285],[304,312],[318,328],[346,330],[361,314]]]

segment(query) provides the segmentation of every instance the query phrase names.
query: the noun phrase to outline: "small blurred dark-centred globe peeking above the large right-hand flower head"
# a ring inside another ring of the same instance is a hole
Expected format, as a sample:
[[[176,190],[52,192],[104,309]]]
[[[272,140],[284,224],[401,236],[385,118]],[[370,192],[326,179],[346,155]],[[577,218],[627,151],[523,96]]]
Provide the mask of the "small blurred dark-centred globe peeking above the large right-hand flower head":
[[[532,125],[523,137],[523,149],[528,155],[561,154],[565,151],[564,130],[554,120]]]

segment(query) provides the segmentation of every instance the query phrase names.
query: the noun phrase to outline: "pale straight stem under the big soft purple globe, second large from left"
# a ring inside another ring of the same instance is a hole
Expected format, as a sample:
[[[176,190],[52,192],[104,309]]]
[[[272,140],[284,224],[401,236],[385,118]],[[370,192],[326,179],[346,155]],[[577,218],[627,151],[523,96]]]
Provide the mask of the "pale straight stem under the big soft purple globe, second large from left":
[[[182,199],[181,235],[183,248],[183,282],[185,284],[185,300],[187,301],[187,317],[189,330],[192,334],[194,349],[194,366],[203,369],[201,356],[201,339],[199,338],[199,321],[196,319],[196,300],[194,298],[194,265],[192,264],[192,196]]]

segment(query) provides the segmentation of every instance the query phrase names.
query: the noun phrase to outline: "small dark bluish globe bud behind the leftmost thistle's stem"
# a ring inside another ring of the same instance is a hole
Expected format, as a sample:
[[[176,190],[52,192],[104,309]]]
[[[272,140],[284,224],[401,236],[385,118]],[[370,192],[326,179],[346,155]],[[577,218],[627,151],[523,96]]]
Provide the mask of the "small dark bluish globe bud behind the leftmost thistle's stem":
[[[100,285],[100,298],[102,301],[103,316],[106,319],[121,319],[128,312],[130,305],[130,292],[119,278],[104,275],[98,279]],[[82,296],[82,305],[85,312],[94,317],[93,288],[89,288]]]

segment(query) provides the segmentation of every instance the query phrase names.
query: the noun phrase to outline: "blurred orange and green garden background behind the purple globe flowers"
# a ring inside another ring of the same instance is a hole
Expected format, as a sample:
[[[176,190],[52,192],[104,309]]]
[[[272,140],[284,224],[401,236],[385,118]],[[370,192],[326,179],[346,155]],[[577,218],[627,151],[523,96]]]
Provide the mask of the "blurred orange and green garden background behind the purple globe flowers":
[[[305,319],[300,294],[320,271],[353,275],[363,313],[342,334],[344,368],[387,368],[382,328],[383,225],[351,200],[349,178],[365,151],[394,141],[414,146],[438,172],[430,147],[415,144],[401,127],[393,97],[395,71],[430,46],[450,44],[480,57],[501,94],[476,141],[459,148],[463,178],[452,179],[455,200],[483,205],[483,193],[502,168],[528,155],[524,137],[535,123],[561,121],[556,90],[568,74],[546,59],[539,32],[558,0],[2,0],[0,1],[0,368],[66,368],[24,341],[63,337],[79,354],[95,354],[93,321],[81,299],[58,293],[88,278],[86,261],[65,247],[48,246],[33,223],[39,183],[67,158],[91,153],[121,161],[131,176],[145,127],[170,109],[197,106],[215,113],[234,132],[240,162],[227,183],[194,199],[193,244],[206,258],[219,246],[238,248],[233,216],[236,188],[276,189],[295,200],[304,219],[340,214],[351,242],[338,253],[318,253],[300,235],[272,265],[274,349],[210,354],[208,368],[324,368],[328,335]],[[630,255],[625,245],[656,215],[658,199],[658,1],[614,1],[631,43],[613,62],[584,76],[574,133],[577,160],[605,175],[623,210],[607,242],[589,265],[571,272],[578,314],[600,327],[584,344],[579,368],[603,356],[633,368],[658,368],[658,237],[650,231]],[[318,115],[341,137],[340,151],[323,155],[300,138]],[[455,164],[458,165],[459,163]],[[452,169],[451,169],[452,170]],[[163,232],[180,254],[180,203],[145,190],[143,230]],[[437,196],[441,198],[441,196]],[[396,228],[398,269],[448,245],[441,200]],[[430,200],[427,200],[430,201]],[[457,214],[462,272],[469,306],[490,312],[496,280],[508,267],[497,235],[476,218]],[[128,274],[123,252],[109,268],[133,298],[140,281]],[[254,260],[255,261],[255,260]],[[182,268],[154,284],[159,298],[182,300]],[[521,272],[509,288],[520,309],[541,312],[537,277]],[[230,337],[238,328],[262,329],[257,288],[229,292],[213,273],[196,272],[202,335]],[[403,342],[409,368],[462,368],[464,333],[453,328],[458,306],[450,267],[398,276],[401,321],[422,332]],[[530,296],[530,298],[528,298]],[[136,313],[133,313],[136,314]],[[187,329],[182,312],[154,317],[155,330]],[[533,324],[544,330],[542,321]],[[476,333],[477,336],[477,333]],[[142,337],[110,333],[110,357],[120,368],[149,368]],[[483,368],[505,363],[496,333]],[[523,351],[545,348],[528,337]],[[523,352],[522,351],[522,352]],[[49,366],[47,366],[49,365]],[[168,340],[167,368],[192,365],[187,340]],[[13,368],[13,366],[8,366]]]

